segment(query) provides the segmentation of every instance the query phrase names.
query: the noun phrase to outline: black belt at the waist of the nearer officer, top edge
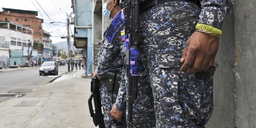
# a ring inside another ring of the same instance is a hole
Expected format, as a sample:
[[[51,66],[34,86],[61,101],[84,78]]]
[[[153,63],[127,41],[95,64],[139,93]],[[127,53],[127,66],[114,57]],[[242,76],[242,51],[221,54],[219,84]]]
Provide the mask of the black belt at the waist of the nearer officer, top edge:
[[[142,12],[146,11],[148,8],[150,8],[151,6],[153,6],[154,1],[155,0],[146,0],[142,3],[140,3],[140,10],[141,10],[140,12],[142,13]],[[178,1],[178,0],[158,0],[157,4],[171,2],[171,1]],[[181,1],[192,2],[192,3],[195,3],[199,8],[201,7],[199,0],[181,0]]]

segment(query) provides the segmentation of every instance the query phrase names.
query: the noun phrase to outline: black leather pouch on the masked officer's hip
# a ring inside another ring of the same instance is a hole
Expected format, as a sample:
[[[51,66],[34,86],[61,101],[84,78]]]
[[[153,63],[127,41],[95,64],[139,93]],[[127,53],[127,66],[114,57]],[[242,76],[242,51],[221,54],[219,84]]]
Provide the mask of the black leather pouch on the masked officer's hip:
[[[109,92],[117,94],[121,83],[121,74],[108,72],[107,79],[101,79],[100,82],[106,86]]]

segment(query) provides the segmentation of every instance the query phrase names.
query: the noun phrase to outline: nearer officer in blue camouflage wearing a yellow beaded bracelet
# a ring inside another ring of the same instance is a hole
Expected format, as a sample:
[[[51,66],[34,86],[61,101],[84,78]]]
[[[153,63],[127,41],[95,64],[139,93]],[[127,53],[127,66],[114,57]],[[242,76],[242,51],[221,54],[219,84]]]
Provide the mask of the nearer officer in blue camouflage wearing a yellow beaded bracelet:
[[[203,128],[208,122],[218,36],[233,1],[154,0],[140,14],[141,56],[150,75],[157,128]]]

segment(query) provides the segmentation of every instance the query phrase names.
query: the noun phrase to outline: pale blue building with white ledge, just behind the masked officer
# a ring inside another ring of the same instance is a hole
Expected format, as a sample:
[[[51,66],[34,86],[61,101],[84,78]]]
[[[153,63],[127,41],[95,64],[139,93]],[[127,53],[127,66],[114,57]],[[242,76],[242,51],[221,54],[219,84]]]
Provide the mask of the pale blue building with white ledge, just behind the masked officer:
[[[74,17],[74,46],[84,49],[84,69],[93,73],[93,1],[71,0]]]

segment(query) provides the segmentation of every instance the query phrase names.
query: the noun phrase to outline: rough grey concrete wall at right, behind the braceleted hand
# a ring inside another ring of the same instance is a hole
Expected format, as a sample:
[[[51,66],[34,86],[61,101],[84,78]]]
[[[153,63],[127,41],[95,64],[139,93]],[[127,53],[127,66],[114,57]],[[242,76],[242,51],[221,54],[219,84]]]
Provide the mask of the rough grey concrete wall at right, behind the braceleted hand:
[[[256,1],[236,1],[222,26],[207,128],[256,128]]]

